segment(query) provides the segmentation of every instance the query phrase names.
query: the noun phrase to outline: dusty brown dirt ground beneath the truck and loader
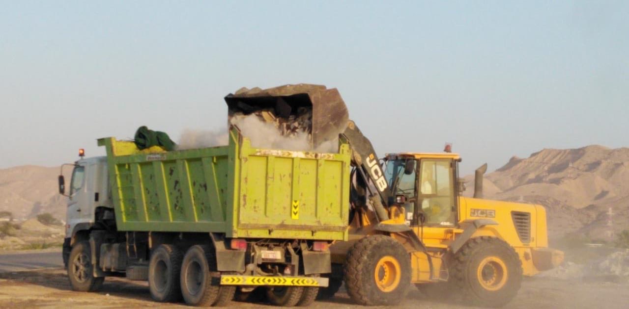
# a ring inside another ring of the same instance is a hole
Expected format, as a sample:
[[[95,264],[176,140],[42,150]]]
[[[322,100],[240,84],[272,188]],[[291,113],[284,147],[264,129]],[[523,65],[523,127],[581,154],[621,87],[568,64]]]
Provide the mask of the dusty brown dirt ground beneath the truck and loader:
[[[506,308],[627,308],[629,283],[603,281],[525,278],[515,300]],[[260,303],[233,302],[231,306],[257,308]],[[148,293],[147,283],[123,278],[107,278],[97,293],[70,291],[64,269],[0,273],[0,308],[184,308],[182,304],[157,304]],[[270,307],[270,306],[269,306]],[[350,308],[342,289],[330,301],[317,301],[311,308]],[[398,308],[471,308],[444,301],[431,301],[415,288]]]

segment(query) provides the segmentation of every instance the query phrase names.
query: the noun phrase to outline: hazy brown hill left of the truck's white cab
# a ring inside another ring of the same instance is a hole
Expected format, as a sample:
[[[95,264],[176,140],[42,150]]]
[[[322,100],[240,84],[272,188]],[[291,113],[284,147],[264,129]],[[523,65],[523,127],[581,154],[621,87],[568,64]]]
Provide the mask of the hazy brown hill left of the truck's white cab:
[[[66,198],[57,193],[58,174],[58,167],[33,165],[0,170],[0,211],[12,212],[18,220],[45,212],[64,220]],[[68,183],[69,175],[65,177]]]

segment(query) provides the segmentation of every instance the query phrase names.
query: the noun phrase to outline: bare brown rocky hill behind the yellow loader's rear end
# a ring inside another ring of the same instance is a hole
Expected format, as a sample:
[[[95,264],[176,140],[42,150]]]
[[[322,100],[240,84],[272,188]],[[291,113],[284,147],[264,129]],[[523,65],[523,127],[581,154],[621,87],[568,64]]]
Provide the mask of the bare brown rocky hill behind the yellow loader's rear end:
[[[466,177],[474,190],[473,177]],[[610,240],[629,229],[629,148],[543,149],[485,176],[484,197],[547,207],[550,237]]]

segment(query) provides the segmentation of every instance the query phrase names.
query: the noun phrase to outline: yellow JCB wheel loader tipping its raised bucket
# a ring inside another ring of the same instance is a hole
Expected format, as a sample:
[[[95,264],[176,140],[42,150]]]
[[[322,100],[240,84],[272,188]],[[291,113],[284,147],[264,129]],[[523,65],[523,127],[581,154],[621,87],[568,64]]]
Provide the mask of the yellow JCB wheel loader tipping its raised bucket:
[[[314,146],[338,136],[350,145],[350,235],[330,248],[333,271],[320,298],[344,282],[360,305],[395,305],[416,285],[429,296],[503,306],[523,276],[562,263],[563,252],[548,248],[542,205],[482,199],[482,168],[475,197],[463,197],[457,154],[392,153],[379,160],[337,91],[303,84],[244,89],[228,105],[230,116],[305,106]]]

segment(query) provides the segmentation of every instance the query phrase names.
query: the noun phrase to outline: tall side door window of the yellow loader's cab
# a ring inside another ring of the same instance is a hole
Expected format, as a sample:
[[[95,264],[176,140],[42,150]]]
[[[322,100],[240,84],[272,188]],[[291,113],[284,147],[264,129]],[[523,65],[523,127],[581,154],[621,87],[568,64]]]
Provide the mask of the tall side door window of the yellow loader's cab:
[[[426,224],[454,225],[454,181],[450,160],[421,160],[420,204]]]

